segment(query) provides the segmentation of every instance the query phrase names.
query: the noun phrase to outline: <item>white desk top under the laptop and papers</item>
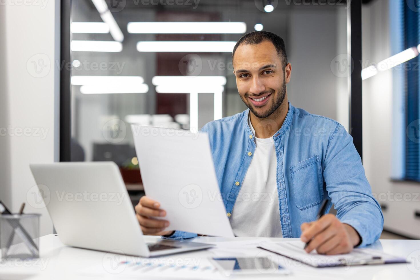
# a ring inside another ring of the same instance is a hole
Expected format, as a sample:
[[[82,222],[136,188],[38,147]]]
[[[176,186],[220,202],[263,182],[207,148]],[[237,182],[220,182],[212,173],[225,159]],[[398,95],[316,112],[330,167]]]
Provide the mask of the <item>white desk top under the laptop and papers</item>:
[[[146,238],[159,238],[155,236],[147,236]],[[222,241],[245,241],[256,238],[221,238],[221,237],[198,237],[194,241],[212,243]],[[271,241],[290,241],[294,238],[261,238],[270,239]],[[333,268],[313,268],[299,262],[273,254],[281,265],[287,267],[291,274],[284,276],[286,279],[420,279],[420,240],[381,240],[376,242],[374,249],[383,249],[383,251],[397,256],[404,256],[411,261],[410,264],[387,264],[377,266],[359,266],[359,267],[333,267]],[[250,256],[260,254],[270,254],[262,249],[249,250]],[[252,252],[251,252],[252,251]],[[261,253],[264,252],[264,253]],[[115,260],[123,260],[125,256],[118,254],[110,254],[100,251],[77,249],[64,246],[60,242],[58,236],[50,234],[40,238],[40,260],[28,263],[14,262],[0,265],[0,280],[28,279],[28,280],[61,280],[61,279],[167,279],[168,277],[147,275],[146,270],[149,268],[142,267],[136,271],[136,276],[126,276],[129,267],[120,267],[115,271],[108,272],[104,263],[110,258]],[[203,250],[196,252],[187,252],[166,257],[173,259],[195,259],[206,260],[209,256],[214,256],[214,252]],[[135,258],[135,257],[134,257]],[[172,268],[170,268],[172,269]],[[187,268],[189,269],[189,268]],[[121,271],[120,271],[121,270]],[[90,271],[92,274],[86,274]],[[209,273],[213,273],[209,277]],[[179,270],[171,274],[173,279],[179,275]],[[222,279],[216,271],[201,272],[194,271],[194,277],[191,279]],[[267,278],[278,279],[281,276],[267,275]],[[178,279],[185,279],[180,277]],[[254,277],[262,279],[263,277]],[[252,279],[252,277],[247,277]]]

